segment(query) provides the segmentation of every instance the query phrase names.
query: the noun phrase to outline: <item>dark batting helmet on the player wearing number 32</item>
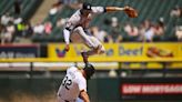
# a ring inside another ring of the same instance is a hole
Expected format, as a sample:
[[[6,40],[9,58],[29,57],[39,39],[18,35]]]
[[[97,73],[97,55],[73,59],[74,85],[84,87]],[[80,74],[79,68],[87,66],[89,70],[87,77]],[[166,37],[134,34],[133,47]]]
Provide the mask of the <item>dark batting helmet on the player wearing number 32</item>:
[[[83,70],[87,74],[87,80],[89,80],[95,71],[94,67],[91,63],[87,63]]]

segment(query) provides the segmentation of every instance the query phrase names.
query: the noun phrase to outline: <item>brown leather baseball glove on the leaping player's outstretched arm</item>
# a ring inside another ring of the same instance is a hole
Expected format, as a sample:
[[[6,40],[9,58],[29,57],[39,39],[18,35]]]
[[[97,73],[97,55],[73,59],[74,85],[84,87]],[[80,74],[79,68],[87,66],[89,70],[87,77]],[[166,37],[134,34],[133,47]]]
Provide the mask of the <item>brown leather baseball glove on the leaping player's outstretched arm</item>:
[[[129,6],[124,7],[124,12],[130,17],[130,18],[136,18],[138,17],[138,11]]]

